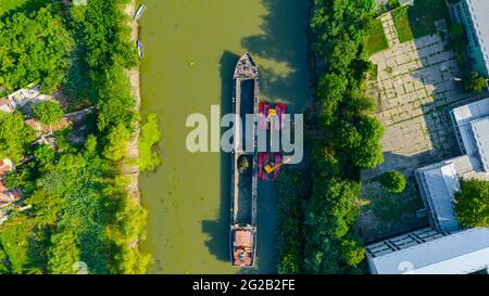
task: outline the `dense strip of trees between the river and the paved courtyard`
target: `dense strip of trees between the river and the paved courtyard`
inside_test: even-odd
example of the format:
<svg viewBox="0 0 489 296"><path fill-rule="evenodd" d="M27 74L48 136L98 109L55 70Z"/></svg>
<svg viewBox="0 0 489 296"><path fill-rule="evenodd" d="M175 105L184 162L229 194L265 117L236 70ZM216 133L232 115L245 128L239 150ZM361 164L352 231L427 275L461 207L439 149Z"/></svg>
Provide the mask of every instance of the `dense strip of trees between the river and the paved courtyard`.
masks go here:
<svg viewBox="0 0 489 296"><path fill-rule="evenodd" d="M364 248L351 233L360 211L360 170L384 160L384 128L371 116L373 100L364 95L364 80L373 65L363 42L375 7L373 0L313 1L317 120L308 127L314 130L313 162L311 175L304 178L312 180L312 186L305 185L305 193L290 186L279 191L279 201L294 196L290 208L279 204L283 273L349 273L361 268ZM294 234L292 228L302 234Z"/></svg>

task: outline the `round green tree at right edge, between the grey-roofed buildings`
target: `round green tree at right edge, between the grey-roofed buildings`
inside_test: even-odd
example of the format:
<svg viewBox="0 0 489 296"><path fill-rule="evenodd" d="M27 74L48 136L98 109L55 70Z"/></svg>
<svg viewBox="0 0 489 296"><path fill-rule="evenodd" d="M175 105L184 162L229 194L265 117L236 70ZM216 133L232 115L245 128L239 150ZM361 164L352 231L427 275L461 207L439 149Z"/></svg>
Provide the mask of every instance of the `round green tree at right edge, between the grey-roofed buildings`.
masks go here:
<svg viewBox="0 0 489 296"><path fill-rule="evenodd" d="M489 181L462 179L454 196L459 222L464 227L489 227Z"/></svg>

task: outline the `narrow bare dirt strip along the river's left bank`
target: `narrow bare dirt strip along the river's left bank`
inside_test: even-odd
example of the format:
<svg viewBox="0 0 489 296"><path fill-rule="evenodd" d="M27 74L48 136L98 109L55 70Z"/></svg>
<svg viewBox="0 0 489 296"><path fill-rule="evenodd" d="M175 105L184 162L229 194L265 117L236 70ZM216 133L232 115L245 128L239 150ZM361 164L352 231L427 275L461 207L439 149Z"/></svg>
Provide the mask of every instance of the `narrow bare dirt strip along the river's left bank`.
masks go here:
<svg viewBox="0 0 489 296"><path fill-rule="evenodd" d="M125 13L129 16L130 20L130 29L131 29L131 40L136 44L138 40L138 23L133 21L133 16L136 13L136 0L130 1L129 5L125 9ZM129 78L130 85L133 87L133 94L136 100L135 112L139 113L139 108L141 105L141 94L140 94L140 76L139 76L139 67L134 69L126 70L127 77ZM129 184L127 186L128 196L134 198L138 204L141 204L141 194L139 192L139 134L140 127L139 120L135 123L135 132L128 143L127 147L127 158L130 159L123 165L123 172L128 177Z"/></svg>

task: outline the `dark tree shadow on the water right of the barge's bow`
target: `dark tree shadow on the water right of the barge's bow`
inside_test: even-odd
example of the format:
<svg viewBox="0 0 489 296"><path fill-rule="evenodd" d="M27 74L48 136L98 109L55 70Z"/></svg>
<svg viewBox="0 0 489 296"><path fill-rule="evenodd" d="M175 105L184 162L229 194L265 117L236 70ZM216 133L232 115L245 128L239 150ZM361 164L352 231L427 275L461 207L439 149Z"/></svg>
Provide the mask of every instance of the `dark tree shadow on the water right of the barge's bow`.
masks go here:
<svg viewBox="0 0 489 296"><path fill-rule="evenodd" d="M247 51L262 59L286 65L286 70L260 65L261 92L273 102L291 104L297 111L310 98L306 39L310 1L262 0L263 34L243 38ZM301 40L302 39L302 40Z"/></svg>

